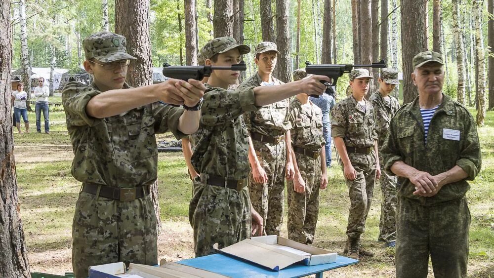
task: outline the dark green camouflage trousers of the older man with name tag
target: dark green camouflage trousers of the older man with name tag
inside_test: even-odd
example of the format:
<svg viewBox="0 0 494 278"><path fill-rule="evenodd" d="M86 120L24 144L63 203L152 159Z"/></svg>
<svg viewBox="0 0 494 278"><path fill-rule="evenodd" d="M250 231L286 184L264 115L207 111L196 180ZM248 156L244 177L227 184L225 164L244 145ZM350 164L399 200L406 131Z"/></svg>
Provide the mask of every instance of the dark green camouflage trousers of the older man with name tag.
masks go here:
<svg viewBox="0 0 494 278"><path fill-rule="evenodd" d="M425 278L429 255L434 277L466 277L470 211L465 197L434 206L398 198L396 277Z"/></svg>

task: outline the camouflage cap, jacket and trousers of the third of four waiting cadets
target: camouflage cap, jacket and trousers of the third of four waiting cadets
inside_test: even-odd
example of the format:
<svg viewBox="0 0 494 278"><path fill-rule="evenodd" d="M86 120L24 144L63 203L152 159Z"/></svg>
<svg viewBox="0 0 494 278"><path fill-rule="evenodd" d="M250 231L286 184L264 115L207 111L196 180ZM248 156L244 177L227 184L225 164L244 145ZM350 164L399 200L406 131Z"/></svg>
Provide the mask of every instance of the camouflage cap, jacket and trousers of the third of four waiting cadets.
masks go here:
<svg viewBox="0 0 494 278"><path fill-rule="evenodd" d="M353 70L350 80L363 76L369 76L369 72L363 69ZM375 114L371 103L367 100L365 102L367 109L364 111L353 95L350 95L337 103L331 111L331 136L343 138L347 149L373 148L377 140ZM371 208L376 174L375 154L372 149L369 154L348 152L348 157L357 172L357 178L353 181L345 178L351 202L346 235L357 239L365 232L367 214Z"/></svg>

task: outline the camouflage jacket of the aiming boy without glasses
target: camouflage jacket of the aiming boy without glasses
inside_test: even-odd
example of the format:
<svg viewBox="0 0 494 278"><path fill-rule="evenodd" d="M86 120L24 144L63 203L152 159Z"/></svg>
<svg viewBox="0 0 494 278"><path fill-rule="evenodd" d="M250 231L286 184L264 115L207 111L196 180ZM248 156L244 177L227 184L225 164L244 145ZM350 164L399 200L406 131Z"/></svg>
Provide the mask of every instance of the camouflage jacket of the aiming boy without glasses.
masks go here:
<svg viewBox="0 0 494 278"><path fill-rule="evenodd" d="M236 90L206 84L192 166L201 174L245 179L250 172L248 134L242 114L255 111L252 87Z"/></svg>

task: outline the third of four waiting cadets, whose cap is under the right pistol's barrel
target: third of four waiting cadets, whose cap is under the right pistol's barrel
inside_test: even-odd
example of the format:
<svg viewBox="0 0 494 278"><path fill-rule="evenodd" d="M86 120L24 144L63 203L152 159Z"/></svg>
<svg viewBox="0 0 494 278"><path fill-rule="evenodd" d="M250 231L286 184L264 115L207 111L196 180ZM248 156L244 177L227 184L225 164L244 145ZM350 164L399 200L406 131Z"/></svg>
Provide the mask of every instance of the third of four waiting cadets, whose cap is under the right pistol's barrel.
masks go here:
<svg viewBox="0 0 494 278"><path fill-rule="evenodd" d="M345 253L353 259L358 259L359 255L374 255L360 242L371 208L374 181L381 172L374 110L364 98L371 79L368 70L353 70L350 73L352 95L337 103L331 114L331 136L343 163L350 196Z"/></svg>

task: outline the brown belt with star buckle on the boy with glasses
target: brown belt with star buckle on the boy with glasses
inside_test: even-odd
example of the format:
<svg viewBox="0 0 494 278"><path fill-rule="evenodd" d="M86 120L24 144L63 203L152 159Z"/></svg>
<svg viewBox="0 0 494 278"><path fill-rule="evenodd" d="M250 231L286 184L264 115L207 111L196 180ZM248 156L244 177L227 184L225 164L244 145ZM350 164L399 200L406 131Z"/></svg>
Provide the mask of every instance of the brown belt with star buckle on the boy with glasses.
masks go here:
<svg viewBox="0 0 494 278"><path fill-rule="evenodd" d="M99 196L108 199L120 200L123 202L133 201L149 195L149 185L136 186L131 188L118 188L95 183L84 183L82 192L96 195L98 187L101 186Z"/></svg>

